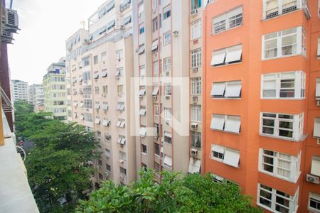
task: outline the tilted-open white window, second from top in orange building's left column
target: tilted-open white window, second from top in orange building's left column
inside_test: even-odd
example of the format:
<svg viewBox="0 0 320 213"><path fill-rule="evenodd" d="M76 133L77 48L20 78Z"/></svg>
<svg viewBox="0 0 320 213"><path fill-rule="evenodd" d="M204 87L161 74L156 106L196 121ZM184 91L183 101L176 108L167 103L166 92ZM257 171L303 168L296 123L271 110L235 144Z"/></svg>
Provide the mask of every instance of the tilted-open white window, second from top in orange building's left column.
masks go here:
<svg viewBox="0 0 320 213"><path fill-rule="evenodd" d="M211 66L228 65L242 61L242 45L213 51Z"/></svg>

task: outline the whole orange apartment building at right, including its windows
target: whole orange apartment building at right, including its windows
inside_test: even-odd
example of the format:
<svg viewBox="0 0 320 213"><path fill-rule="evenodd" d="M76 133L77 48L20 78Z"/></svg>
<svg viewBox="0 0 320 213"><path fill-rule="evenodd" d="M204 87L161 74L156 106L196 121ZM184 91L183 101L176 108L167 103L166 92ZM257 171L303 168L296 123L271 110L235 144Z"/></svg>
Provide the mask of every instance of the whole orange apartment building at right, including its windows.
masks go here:
<svg viewBox="0 0 320 213"><path fill-rule="evenodd" d="M320 212L320 1L203 10L203 173L265 212Z"/></svg>

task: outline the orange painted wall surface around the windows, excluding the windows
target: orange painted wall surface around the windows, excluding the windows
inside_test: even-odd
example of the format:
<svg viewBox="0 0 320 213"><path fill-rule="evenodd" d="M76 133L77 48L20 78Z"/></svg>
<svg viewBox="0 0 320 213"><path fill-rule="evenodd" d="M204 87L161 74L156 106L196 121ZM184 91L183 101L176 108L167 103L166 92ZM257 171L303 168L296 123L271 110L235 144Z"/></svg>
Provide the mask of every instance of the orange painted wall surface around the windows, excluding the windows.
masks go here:
<svg viewBox="0 0 320 213"><path fill-rule="evenodd" d="M212 18L242 5L242 26L223 33L211 34ZM299 210L306 212L309 191L320 194L319 185L305 181L309 173L310 155L320 156L320 146L312 137L314 117L320 116L315 102L315 79L320 77L320 60L316 58L317 39L320 37L318 1L309 1L311 17L304 11L294 11L262 21L262 0L217 0L203 11L203 173L214 173L238 182L242 192L257 197L257 182L294 195L299 187ZM262 35L287 28L303 26L307 32L306 58L296 55L273 60L262 60ZM242 62L211 67L213 50L242 44ZM306 98L300 100L264 100L260 98L261 75L272 72L303 70L306 72ZM241 99L212 99L212 82L241 80ZM305 141L293 142L260 136L260 112L300 114L304 112ZM210 129L212 114L240 115L240 135ZM240 167L233 168L210 159L211 144L215 143L240 151ZM259 148L290 155L302 151L301 171L297 183L288 182L258 171ZM306 157L308 156L308 157Z"/></svg>

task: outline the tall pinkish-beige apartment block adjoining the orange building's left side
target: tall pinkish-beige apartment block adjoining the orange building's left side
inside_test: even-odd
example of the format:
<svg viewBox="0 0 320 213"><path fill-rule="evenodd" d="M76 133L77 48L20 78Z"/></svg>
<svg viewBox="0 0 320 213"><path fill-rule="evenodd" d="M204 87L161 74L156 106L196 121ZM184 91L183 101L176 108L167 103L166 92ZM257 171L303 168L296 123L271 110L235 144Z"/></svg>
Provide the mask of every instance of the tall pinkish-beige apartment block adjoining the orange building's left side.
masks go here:
<svg viewBox="0 0 320 213"><path fill-rule="evenodd" d="M136 1L134 5L138 168L200 172L200 10L198 0Z"/></svg>

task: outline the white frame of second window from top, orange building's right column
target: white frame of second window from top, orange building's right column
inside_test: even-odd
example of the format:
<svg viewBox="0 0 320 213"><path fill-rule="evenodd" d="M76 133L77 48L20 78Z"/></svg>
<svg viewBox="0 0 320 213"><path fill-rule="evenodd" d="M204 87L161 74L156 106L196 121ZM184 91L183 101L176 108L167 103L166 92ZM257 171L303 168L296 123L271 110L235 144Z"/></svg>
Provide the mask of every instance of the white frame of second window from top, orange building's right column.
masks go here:
<svg viewBox="0 0 320 213"><path fill-rule="evenodd" d="M290 31L295 31L295 32L290 33ZM285 39L287 37L294 36L294 35L295 35L296 43L282 46L282 39ZM273 42L275 42L275 48L268 48L266 46L266 43L272 42L272 40ZM282 48L287 48L290 46L292 46L293 49L295 46L295 50L296 50L295 53L293 52L291 54L288 53L288 54L282 55ZM267 56L266 51L268 50L274 51L274 56ZM277 32L262 35L262 60L270 60L274 58L289 57L294 55L303 55L304 57L306 57L306 31L302 26L298 26L295 28L288 28L282 31L277 31Z"/></svg>

